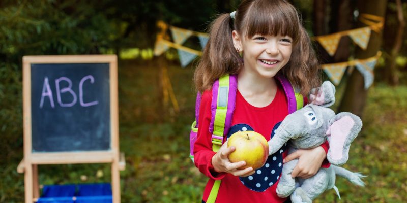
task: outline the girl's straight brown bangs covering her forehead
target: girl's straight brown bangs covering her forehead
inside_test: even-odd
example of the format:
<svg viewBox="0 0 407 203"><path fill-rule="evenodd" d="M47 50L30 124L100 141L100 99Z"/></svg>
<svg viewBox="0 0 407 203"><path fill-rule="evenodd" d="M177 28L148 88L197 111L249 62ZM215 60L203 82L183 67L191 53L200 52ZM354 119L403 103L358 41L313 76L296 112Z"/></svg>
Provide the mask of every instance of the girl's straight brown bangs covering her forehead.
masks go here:
<svg viewBox="0 0 407 203"><path fill-rule="evenodd" d="M244 35L251 38L254 35L289 36L297 42L300 33L297 11L294 7L281 5L280 1L256 1L245 16Z"/></svg>

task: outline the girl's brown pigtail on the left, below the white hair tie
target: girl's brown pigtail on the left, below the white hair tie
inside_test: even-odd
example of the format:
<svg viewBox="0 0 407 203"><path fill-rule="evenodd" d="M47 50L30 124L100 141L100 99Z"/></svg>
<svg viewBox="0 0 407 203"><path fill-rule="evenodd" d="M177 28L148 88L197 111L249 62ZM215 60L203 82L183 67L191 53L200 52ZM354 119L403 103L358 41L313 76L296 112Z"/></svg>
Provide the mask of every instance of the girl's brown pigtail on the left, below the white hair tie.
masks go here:
<svg viewBox="0 0 407 203"><path fill-rule="evenodd" d="M199 92L211 89L217 78L237 74L242 62L232 40L233 20L221 14L211 23L209 40L194 73L195 88Z"/></svg>

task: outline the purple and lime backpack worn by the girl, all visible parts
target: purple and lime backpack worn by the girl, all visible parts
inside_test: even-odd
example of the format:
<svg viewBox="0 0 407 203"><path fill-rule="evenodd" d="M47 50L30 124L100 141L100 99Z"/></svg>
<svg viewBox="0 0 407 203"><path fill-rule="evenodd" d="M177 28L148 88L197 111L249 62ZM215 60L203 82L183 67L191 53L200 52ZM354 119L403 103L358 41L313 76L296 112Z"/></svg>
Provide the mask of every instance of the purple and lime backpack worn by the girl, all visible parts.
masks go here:
<svg viewBox="0 0 407 203"><path fill-rule="evenodd" d="M288 102L288 114L304 106L304 98L298 88L295 88L284 76L278 74L275 78L281 83ZM224 75L212 86L211 123L209 131L212 133L212 150L218 152L222 146L223 137L230 130L238 89L237 75ZM190 154L194 162L194 143L198 133L199 106L202 94L197 93L195 101L195 121L192 123L189 136ZM215 99L216 98L216 99ZM207 203L215 202L221 180L216 180L209 194Z"/></svg>

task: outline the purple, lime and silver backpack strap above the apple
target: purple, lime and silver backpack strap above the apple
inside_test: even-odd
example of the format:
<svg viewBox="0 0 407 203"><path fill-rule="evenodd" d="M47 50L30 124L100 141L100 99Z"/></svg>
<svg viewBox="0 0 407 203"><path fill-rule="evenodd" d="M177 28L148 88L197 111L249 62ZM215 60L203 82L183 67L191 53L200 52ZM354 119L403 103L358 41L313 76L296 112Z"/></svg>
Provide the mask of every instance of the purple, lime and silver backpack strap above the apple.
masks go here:
<svg viewBox="0 0 407 203"><path fill-rule="evenodd" d="M212 149L217 152L222 145L232 122L235 111L236 91L238 89L236 75L224 75L212 86L211 124L209 131L212 133Z"/></svg>

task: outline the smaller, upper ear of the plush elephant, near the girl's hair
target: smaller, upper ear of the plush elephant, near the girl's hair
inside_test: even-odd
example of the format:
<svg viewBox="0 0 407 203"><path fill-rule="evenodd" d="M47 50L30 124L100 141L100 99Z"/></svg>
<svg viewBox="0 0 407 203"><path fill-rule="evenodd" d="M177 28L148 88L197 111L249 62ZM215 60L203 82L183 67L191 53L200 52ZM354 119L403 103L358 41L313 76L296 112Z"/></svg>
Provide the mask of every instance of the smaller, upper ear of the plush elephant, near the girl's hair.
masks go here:
<svg viewBox="0 0 407 203"><path fill-rule="evenodd" d="M330 107L335 103L335 86L331 82L325 81L321 87L311 90L309 99L311 104Z"/></svg>

